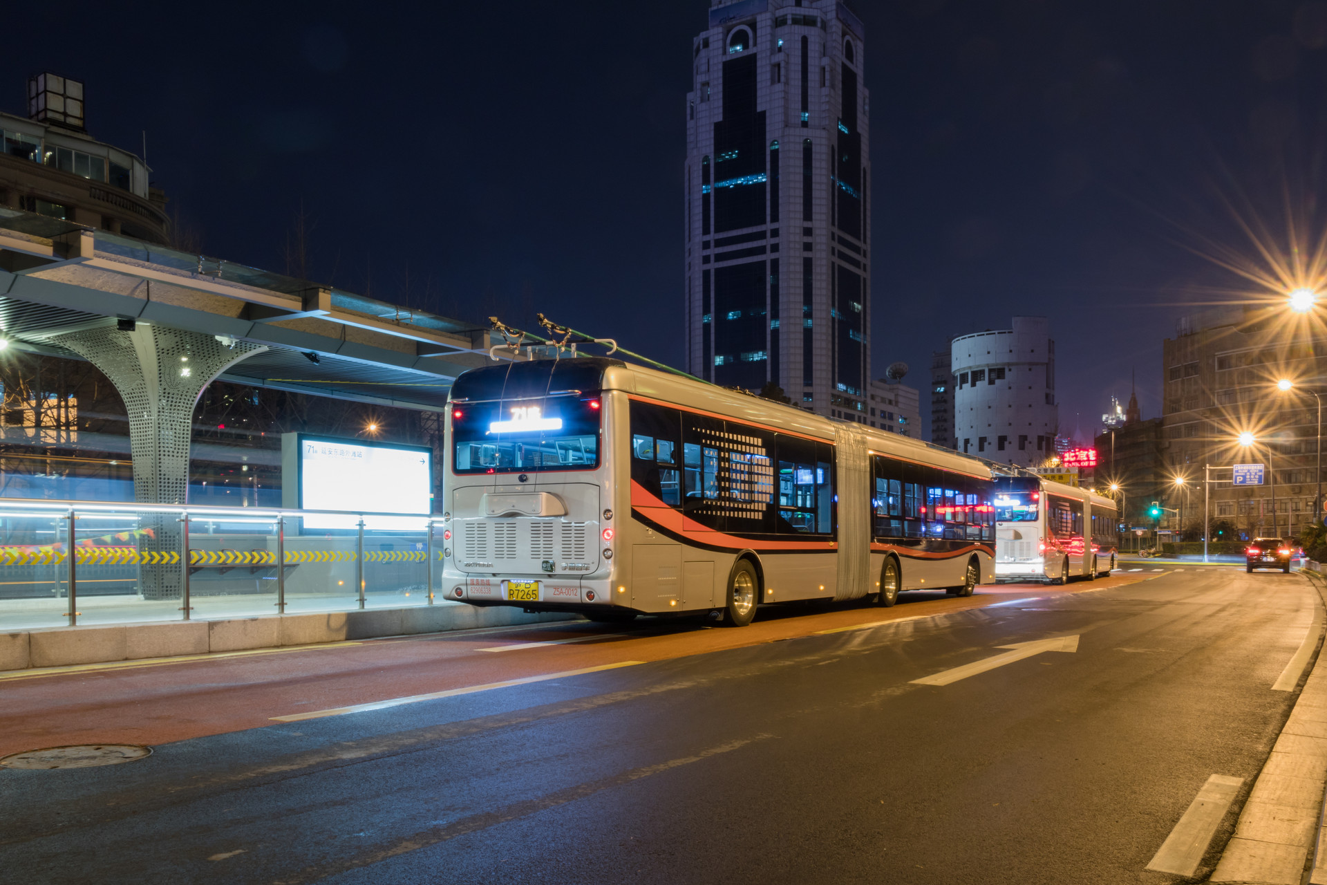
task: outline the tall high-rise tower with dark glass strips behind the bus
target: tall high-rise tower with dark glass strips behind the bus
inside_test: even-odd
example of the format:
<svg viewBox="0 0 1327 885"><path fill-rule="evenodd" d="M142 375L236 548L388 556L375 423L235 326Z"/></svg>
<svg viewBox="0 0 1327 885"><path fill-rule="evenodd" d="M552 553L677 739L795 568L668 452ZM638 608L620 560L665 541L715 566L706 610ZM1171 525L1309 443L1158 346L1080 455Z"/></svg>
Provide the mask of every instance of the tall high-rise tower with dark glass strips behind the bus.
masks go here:
<svg viewBox="0 0 1327 885"><path fill-rule="evenodd" d="M711 0L687 96L693 374L868 421L869 96L839 0Z"/></svg>

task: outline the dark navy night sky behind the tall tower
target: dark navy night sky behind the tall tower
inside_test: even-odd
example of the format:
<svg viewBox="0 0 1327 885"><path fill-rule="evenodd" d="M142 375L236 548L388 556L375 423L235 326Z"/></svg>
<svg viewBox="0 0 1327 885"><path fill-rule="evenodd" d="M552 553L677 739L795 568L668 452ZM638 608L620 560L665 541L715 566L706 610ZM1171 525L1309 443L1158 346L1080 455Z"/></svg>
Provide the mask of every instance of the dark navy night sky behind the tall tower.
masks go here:
<svg viewBox="0 0 1327 885"><path fill-rule="evenodd" d="M0 107L88 82L208 255L476 322L543 310L681 366L682 163L707 3L7 9ZM1223 202L1314 222L1327 3L857 0L874 372L924 391L954 334L1047 314L1089 433L1188 305L1257 295ZM1205 245L1205 243L1208 243ZM1263 293L1265 295L1265 293ZM929 427L928 397L922 397Z"/></svg>

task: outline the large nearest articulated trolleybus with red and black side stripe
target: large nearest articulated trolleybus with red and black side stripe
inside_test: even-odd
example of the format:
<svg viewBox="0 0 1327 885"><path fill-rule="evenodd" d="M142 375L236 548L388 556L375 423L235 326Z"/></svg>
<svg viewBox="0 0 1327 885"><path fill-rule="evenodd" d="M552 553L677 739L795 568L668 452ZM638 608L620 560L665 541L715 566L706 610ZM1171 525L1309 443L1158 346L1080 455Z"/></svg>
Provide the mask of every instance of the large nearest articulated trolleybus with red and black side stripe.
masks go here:
<svg viewBox="0 0 1327 885"><path fill-rule="evenodd" d="M743 626L995 577L990 470L906 437L584 357L467 372L447 422L447 598Z"/></svg>

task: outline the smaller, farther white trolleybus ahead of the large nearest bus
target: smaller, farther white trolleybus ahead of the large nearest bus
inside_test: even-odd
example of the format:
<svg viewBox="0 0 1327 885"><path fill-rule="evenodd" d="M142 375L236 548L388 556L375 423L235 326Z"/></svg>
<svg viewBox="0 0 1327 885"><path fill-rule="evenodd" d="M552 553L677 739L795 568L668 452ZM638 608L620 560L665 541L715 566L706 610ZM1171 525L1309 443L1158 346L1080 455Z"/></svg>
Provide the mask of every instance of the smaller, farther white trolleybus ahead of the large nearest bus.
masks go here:
<svg viewBox="0 0 1327 885"><path fill-rule="evenodd" d="M1054 581L1109 575L1119 553L1115 502L1040 476L995 480L995 577Z"/></svg>

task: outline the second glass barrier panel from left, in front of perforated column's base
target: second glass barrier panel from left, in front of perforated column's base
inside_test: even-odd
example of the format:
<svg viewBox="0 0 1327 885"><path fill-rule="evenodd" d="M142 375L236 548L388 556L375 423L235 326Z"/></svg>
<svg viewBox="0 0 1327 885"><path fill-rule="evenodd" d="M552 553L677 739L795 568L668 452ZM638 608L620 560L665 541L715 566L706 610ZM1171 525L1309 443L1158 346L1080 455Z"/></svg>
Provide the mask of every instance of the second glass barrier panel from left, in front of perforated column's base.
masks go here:
<svg viewBox="0 0 1327 885"><path fill-rule="evenodd" d="M3 512L3 511L0 511ZM78 625L178 621L184 584L178 513L76 511Z"/></svg>

